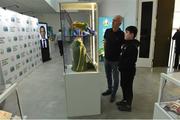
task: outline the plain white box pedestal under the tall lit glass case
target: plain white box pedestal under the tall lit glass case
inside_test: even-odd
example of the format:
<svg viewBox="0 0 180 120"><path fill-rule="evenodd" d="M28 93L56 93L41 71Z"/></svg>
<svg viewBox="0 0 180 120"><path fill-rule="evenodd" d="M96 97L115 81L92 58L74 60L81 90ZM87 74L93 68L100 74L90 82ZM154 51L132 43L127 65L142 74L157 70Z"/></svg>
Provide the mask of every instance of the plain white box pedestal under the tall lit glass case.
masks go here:
<svg viewBox="0 0 180 120"><path fill-rule="evenodd" d="M67 116L101 113L101 90L98 72L73 72L65 77Z"/></svg>

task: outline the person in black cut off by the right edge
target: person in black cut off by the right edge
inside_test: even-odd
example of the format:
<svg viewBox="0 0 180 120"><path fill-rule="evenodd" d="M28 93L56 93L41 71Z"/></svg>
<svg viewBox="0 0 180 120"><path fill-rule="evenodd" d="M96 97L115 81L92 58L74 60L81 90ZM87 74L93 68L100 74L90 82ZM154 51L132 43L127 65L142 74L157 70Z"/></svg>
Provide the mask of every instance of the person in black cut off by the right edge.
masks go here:
<svg viewBox="0 0 180 120"><path fill-rule="evenodd" d="M175 46L175 64L174 64L174 69L180 69L179 66L179 55L180 55L180 28L177 29L177 32L173 35L172 37L173 40L176 41L176 46Z"/></svg>

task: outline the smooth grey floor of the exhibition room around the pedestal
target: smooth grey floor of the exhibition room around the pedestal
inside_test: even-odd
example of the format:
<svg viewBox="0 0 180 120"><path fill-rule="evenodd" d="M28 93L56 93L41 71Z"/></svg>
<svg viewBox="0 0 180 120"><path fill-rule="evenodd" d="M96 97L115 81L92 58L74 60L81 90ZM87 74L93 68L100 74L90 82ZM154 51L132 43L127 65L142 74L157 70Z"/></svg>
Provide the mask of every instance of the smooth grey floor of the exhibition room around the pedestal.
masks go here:
<svg viewBox="0 0 180 120"><path fill-rule="evenodd" d="M154 103L157 101L160 73L165 68L137 68L134 80L134 100L132 112L120 112L109 97L102 97L101 115L76 118L117 118L117 119L151 119ZM102 92L106 89L104 68L101 65ZM121 89L117 100L122 98ZM20 87L24 115L29 119L66 119L65 88L63 80L63 60L56 54L51 61L42 64L25 78Z"/></svg>

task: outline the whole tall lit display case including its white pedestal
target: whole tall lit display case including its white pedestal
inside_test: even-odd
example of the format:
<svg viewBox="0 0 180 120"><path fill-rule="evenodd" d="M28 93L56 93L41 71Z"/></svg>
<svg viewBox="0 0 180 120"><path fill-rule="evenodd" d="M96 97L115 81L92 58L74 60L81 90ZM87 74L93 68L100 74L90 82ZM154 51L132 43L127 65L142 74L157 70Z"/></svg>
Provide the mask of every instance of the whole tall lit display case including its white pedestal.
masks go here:
<svg viewBox="0 0 180 120"><path fill-rule="evenodd" d="M97 13L96 3L60 4L68 117L100 114Z"/></svg>

